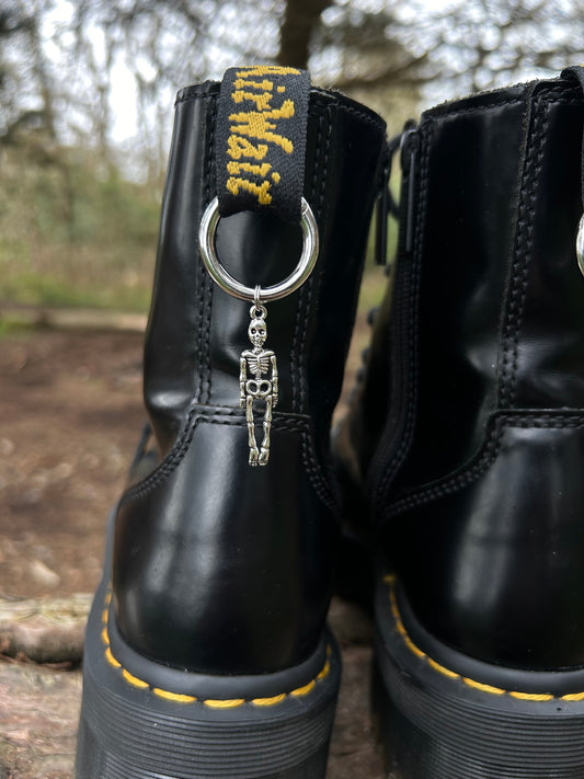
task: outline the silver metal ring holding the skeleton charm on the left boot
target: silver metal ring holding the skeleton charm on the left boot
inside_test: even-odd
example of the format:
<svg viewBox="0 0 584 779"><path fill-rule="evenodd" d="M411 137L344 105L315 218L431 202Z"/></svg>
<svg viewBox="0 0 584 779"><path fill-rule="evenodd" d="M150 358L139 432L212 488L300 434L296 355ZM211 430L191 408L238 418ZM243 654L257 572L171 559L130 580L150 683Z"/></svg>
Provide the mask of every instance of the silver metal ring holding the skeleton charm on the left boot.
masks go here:
<svg viewBox="0 0 584 779"><path fill-rule="evenodd" d="M215 197L205 209L198 229L198 245L205 267L214 282L216 282L224 291L229 293L229 295L240 300L255 300L256 287L248 287L241 284L241 282L238 282L219 262L219 257L215 251L215 233L217 232L219 218L219 202ZM262 302L279 300L286 297L286 295L290 295L290 293L298 289L312 273L319 255L319 230L312 209L304 197L301 203L300 227L302 228L302 252L298 265L293 273L283 282L279 282L279 284L262 287L260 289L260 299Z"/></svg>

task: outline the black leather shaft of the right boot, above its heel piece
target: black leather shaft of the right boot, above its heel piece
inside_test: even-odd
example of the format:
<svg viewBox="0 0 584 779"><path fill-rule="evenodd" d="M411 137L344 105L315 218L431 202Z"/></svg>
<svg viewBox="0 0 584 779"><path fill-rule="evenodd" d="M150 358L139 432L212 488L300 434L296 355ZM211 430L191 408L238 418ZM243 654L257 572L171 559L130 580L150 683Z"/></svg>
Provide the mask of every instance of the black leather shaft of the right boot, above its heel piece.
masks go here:
<svg viewBox="0 0 584 779"><path fill-rule="evenodd" d="M463 465L493 413L584 406L582 118L577 88L538 82L427 112L410 138L416 243L402 243L393 314L403 301L424 445L406 489Z"/></svg>

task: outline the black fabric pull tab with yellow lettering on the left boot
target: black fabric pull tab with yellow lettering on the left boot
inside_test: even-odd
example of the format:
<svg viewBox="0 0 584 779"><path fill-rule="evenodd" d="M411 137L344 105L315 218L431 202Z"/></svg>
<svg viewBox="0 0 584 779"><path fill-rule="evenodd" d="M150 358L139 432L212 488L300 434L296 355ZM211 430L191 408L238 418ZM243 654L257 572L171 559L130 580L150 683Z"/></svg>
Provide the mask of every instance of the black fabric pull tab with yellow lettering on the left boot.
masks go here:
<svg viewBox="0 0 584 779"><path fill-rule="evenodd" d="M306 70L275 65L226 70L215 140L221 217L270 209L300 221L309 93Z"/></svg>

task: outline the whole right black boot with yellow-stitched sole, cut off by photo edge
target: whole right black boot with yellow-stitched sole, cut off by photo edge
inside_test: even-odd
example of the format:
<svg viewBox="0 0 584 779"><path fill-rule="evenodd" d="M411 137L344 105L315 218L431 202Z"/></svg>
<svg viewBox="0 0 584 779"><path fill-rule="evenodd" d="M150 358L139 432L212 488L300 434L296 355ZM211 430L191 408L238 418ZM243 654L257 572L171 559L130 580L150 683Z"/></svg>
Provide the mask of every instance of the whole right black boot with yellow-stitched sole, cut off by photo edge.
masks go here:
<svg viewBox="0 0 584 779"><path fill-rule="evenodd" d="M397 779L584 777L581 70L428 111L339 437Z"/></svg>

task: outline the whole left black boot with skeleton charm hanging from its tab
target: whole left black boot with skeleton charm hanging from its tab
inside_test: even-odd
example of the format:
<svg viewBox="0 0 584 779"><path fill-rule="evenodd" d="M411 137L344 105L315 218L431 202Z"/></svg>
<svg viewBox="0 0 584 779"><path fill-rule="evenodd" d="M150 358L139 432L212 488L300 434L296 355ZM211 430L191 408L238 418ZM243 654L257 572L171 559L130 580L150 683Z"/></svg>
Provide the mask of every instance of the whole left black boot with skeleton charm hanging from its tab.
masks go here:
<svg viewBox="0 0 584 779"><path fill-rule="evenodd" d="M385 124L337 93L295 92L296 76L228 71L176 100L145 351L154 446L111 522L79 779L324 776L340 679L324 622L339 520L329 429ZM304 99L306 125L291 128ZM293 146L299 187L298 167L275 169ZM280 210L278 183L290 185ZM247 210L227 216L241 205L230 195Z"/></svg>

